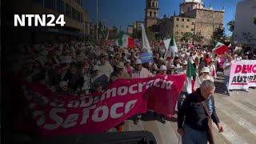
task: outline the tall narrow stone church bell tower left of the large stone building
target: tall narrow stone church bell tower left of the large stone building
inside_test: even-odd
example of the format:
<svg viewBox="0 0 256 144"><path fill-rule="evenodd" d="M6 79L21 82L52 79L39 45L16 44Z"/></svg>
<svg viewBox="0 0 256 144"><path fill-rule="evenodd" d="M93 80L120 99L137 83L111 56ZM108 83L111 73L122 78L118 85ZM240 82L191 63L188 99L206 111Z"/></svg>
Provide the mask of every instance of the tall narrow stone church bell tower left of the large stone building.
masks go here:
<svg viewBox="0 0 256 144"><path fill-rule="evenodd" d="M154 26L158 22L158 0L146 0L145 25Z"/></svg>

